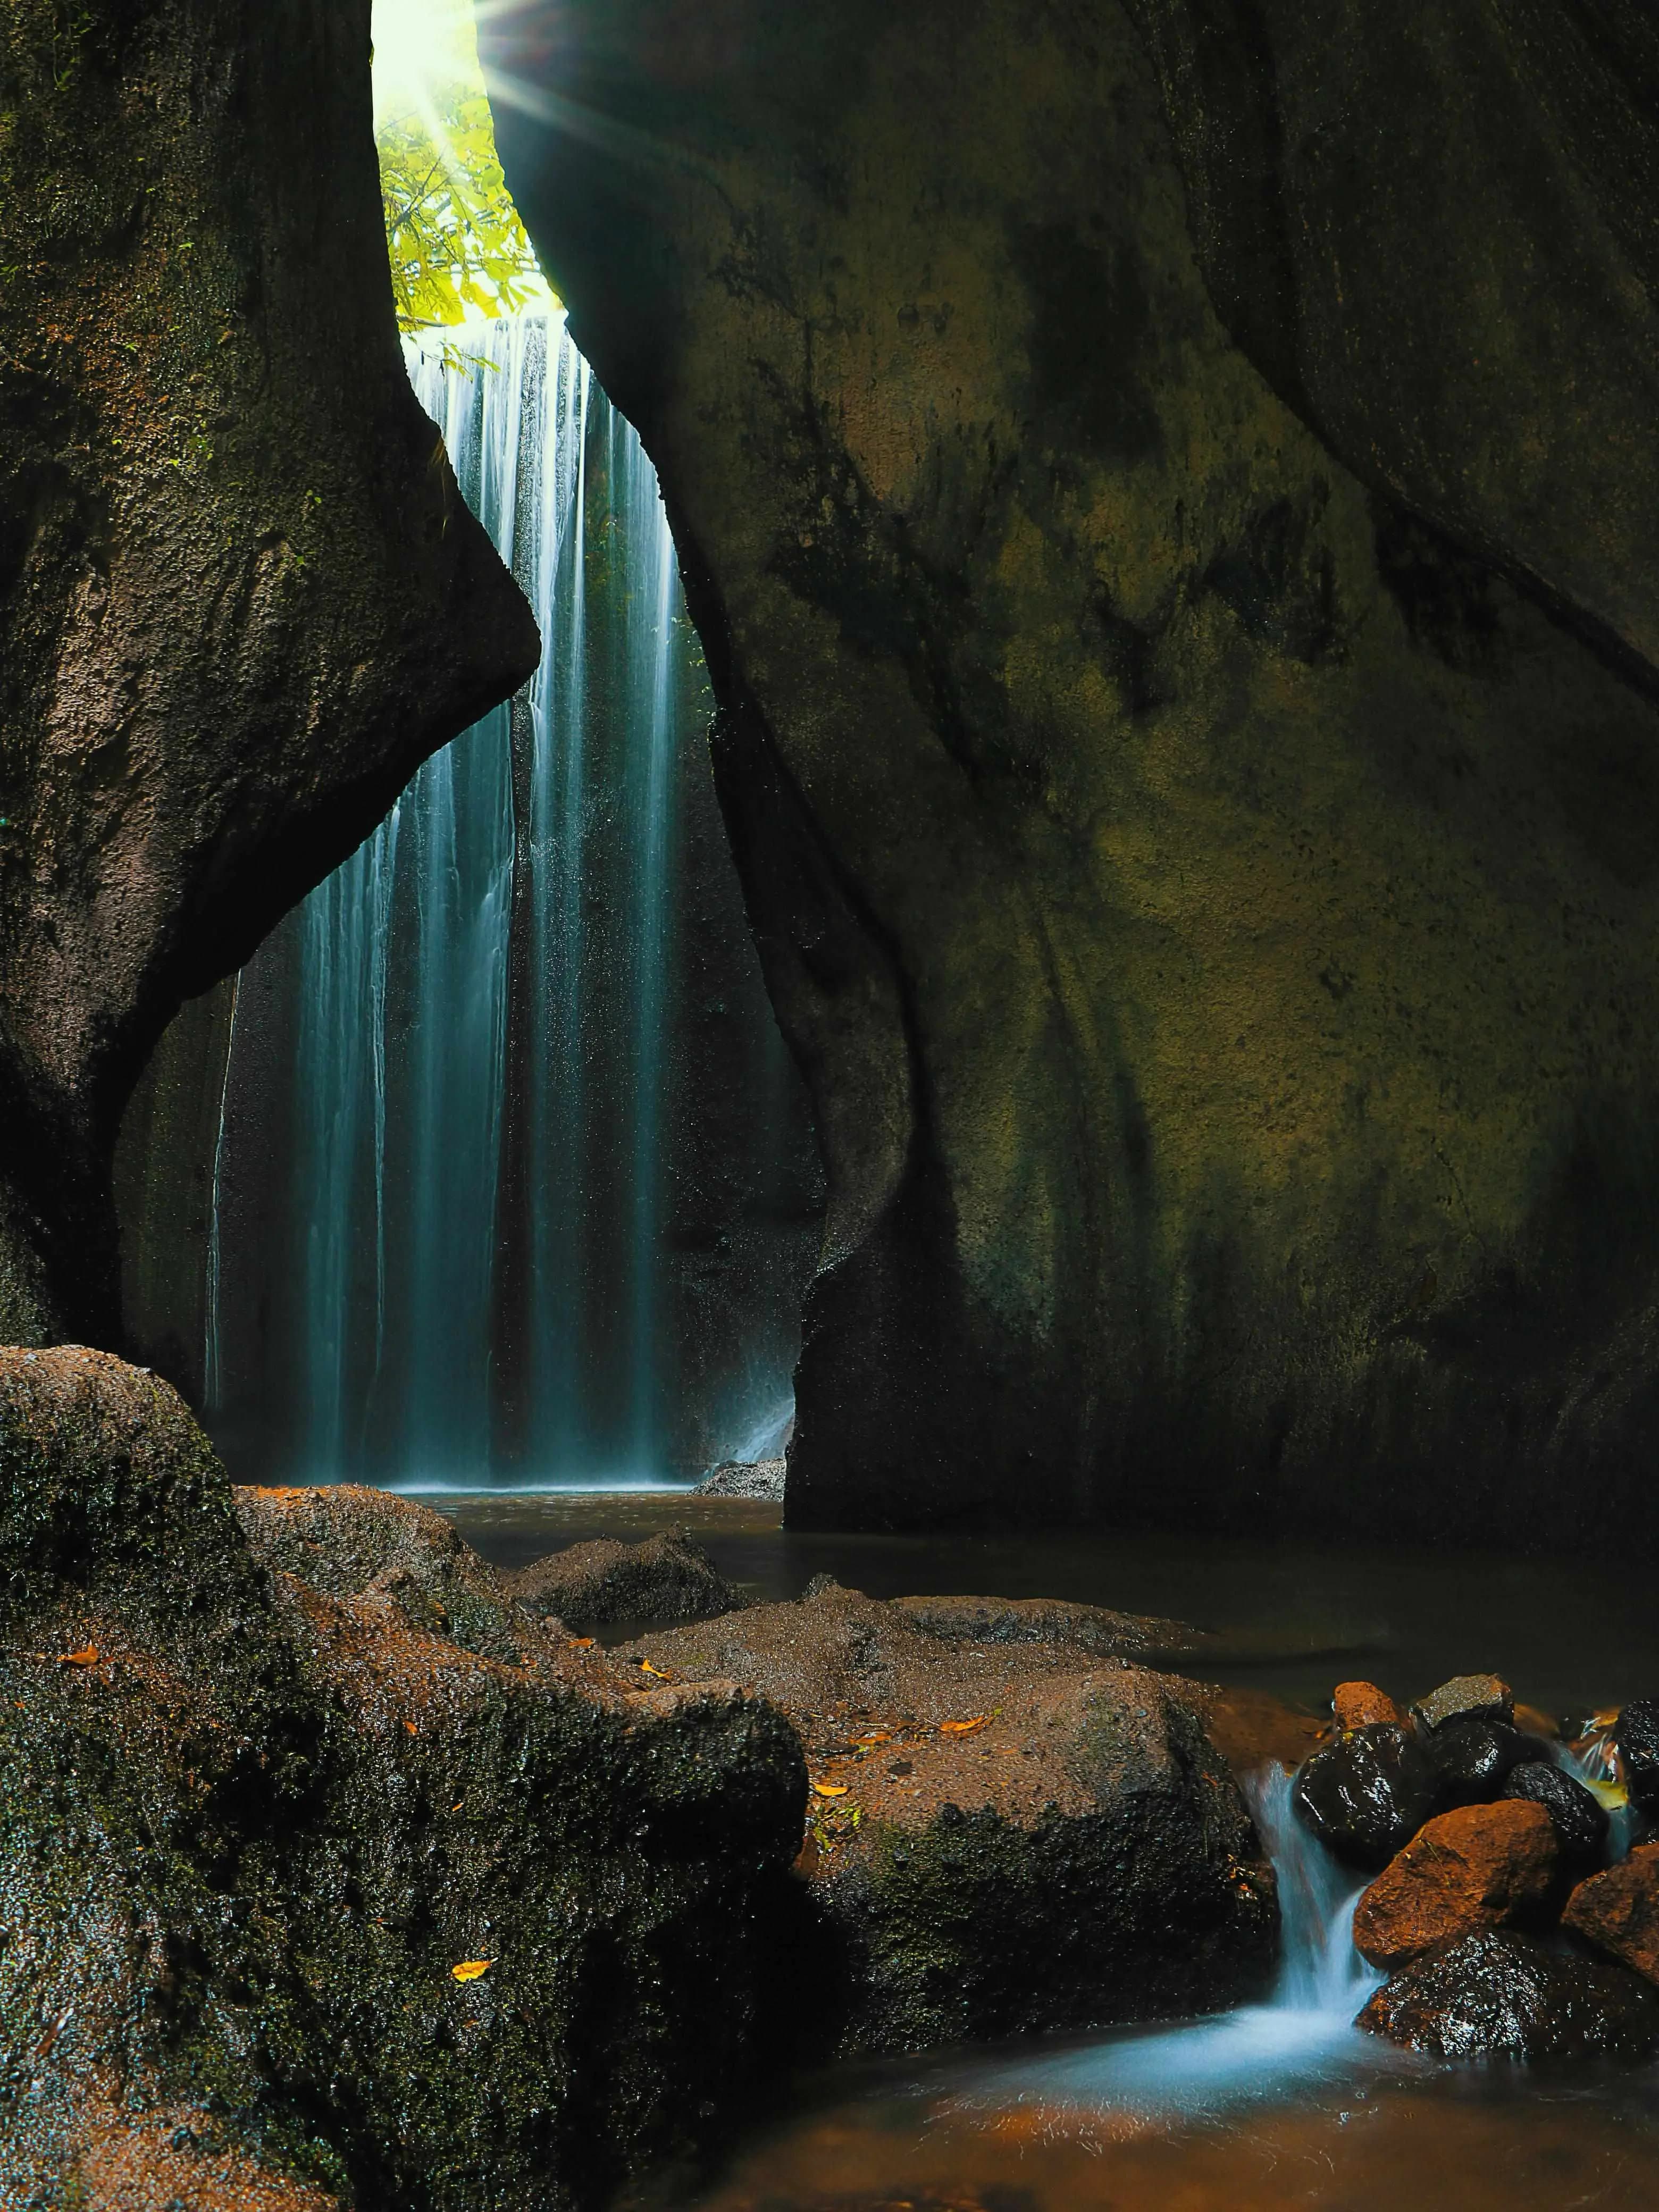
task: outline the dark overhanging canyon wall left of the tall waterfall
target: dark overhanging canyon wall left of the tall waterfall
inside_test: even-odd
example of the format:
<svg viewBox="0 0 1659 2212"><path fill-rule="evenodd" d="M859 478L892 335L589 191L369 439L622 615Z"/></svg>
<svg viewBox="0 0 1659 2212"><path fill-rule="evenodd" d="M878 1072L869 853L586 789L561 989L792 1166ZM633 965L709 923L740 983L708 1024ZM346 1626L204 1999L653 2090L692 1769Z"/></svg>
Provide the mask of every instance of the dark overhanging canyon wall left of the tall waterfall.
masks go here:
<svg viewBox="0 0 1659 2212"><path fill-rule="evenodd" d="M398 358L369 0L20 0L0 186L0 1338L115 1343L150 1046L535 628Z"/></svg>

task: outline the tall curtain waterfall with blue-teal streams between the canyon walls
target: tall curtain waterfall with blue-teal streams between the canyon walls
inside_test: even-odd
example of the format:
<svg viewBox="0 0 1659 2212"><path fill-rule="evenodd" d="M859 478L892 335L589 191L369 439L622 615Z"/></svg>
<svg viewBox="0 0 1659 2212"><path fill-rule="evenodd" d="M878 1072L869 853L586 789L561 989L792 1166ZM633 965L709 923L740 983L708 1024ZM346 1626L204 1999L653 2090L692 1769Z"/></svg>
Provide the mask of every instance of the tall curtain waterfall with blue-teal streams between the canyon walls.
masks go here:
<svg viewBox="0 0 1659 2212"><path fill-rule="evenodd" d="M409 376L531 599L542 664L425 763L257 956L261 1004L288 1006L292 1029L261 1042L261 1082L288 1068L292 1091L237 1117L252 1135L232 1179L281 1188L248 1210L274 1223L270 1250L228 1250L226 1110L254 1064L234 1042L208 1409L241 1389L237 1436L285 1429L261 1469L285 1480L626 1482L661 1478L675 1451L690 1473L675 1360L708 1334L703 1276L719 1292L721 1261L697 1261L688 1290L679 1254L719 1252L723 1232L675 1217L697 1199L681 1093L706 1084L721 1022L743 1099L721 1139L757 1192L805 1119L776 1093L781 1046L723 849L684 920L688 792L706 874L719 830L692 750L706 677L650 460L560 314L469 325L465 345L469 369L411 347ZM695 958L681 927L701 931ZM757 1343L712 1365L697 1352L710 1402L692 1444L787 1396L774 1310L792 1329L805 1230L807 1212L745 1230L726 1305L765 1314Z"/></svg>

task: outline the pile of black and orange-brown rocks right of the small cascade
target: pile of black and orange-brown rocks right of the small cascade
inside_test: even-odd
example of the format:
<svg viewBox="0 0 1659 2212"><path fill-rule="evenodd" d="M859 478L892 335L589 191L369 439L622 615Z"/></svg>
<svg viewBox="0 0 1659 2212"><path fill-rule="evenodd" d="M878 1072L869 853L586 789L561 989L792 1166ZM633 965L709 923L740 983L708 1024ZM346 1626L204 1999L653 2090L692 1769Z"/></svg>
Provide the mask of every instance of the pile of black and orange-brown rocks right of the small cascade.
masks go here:
<svg viewBox="0 0 1659 2212"><path fill-rule="evenodd" d="M1659 1708L1571 1734L1495 1674L1409 1712L1338 1686L1294 1803L1376 1874L1354 1942L1389 1980L1363 2028L1451 2059L1659 2051Z"/></svg>

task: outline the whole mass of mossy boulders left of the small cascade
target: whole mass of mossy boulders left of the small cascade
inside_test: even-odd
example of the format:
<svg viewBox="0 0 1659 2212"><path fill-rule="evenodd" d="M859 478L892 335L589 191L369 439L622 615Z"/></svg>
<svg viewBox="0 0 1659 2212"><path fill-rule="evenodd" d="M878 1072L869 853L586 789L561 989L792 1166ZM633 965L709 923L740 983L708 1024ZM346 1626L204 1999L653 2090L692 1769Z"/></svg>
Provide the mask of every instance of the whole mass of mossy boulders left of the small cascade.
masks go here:
<svg viewBox="0 0 1659 2212"><path fill-rule="evenodd" d="M7 2205L602 2205L803 2057L1270 1973L1172 1624L832 1586L604 1652L553 1593L637 1559L232 1491L73 1347L0 1352L0 1482Z"/></svg>

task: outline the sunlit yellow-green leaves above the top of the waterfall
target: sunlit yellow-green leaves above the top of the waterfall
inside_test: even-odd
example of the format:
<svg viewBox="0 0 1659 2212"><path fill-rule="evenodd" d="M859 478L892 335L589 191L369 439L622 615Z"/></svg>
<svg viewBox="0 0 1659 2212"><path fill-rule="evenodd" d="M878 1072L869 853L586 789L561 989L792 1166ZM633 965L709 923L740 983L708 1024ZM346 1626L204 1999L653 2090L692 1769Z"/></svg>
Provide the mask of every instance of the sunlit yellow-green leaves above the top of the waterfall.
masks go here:
<svg viewBox="0 0 1659 2212"><path fill-rule="evenodd" d="M551 299L518 219L482 86L434 91L422 113L378 128L392 290L405 336L449 332L471 316L515 314ZM445 336L445 358L467 354Z"/></svg>

